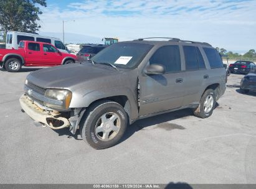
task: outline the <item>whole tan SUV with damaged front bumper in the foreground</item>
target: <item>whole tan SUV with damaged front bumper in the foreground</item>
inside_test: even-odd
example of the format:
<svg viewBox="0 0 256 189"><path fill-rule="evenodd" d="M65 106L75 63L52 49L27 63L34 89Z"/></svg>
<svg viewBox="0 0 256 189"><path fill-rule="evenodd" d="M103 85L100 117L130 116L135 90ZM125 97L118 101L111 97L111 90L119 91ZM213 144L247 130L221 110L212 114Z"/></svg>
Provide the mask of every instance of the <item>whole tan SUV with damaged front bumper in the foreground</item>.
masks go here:
<svg viewBox="0 0 256 189"><path fill-rule="evenodd" d="M91 63L45 68L25 81L22 109L52 129L77 129L95 149L118 143L138 119L191 108L208 118L226 70L211 45L179 39L110 45Z"/></svg>

